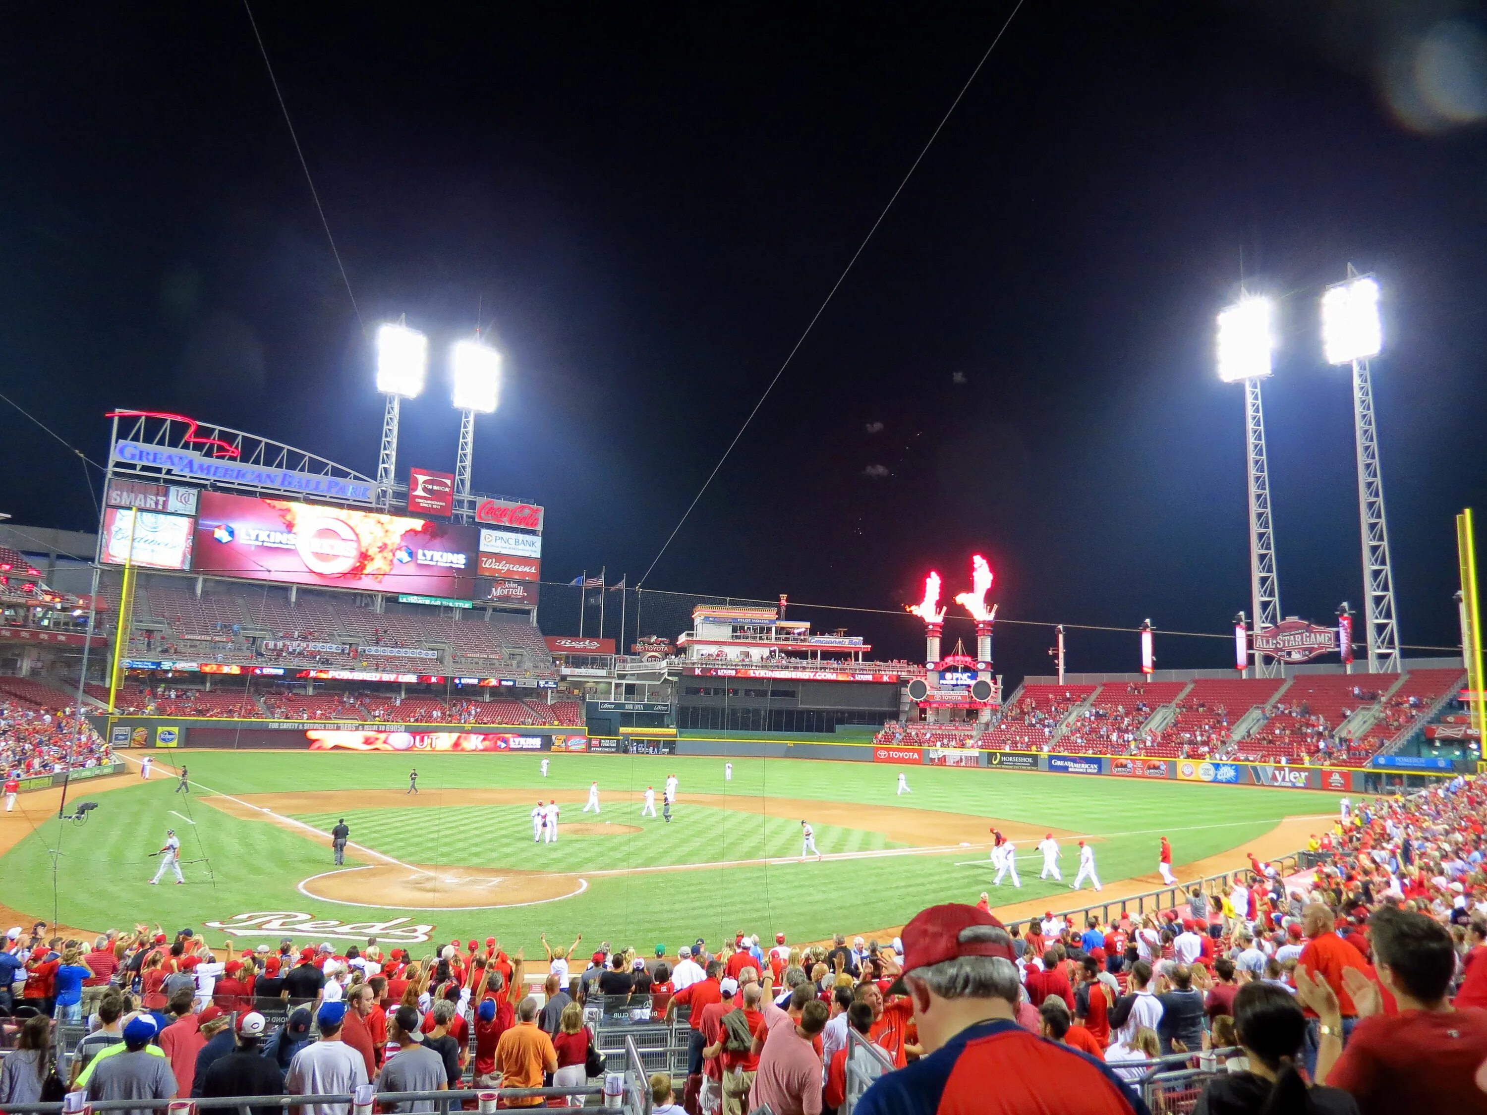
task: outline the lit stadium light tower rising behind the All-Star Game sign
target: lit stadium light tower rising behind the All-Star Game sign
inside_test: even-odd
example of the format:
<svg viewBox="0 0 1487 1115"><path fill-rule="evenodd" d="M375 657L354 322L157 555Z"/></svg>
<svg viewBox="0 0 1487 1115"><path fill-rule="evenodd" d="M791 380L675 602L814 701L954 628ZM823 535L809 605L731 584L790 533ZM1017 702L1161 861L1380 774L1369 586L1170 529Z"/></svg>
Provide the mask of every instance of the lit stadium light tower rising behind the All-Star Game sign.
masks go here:
<svg viewBox="0 0 1487 1115"><path fill-rule="evenodd" d="M1270 470L1259 381L1270 376L1274 336L1270 299L1245 296L1218 315L1218 378L1245 384L1245 445L1249 459L1249 596L1255 633L1280 623L1276 549L1270 529ZM1255 676L1280 675L1280 663L1255 654Z"/></svg>

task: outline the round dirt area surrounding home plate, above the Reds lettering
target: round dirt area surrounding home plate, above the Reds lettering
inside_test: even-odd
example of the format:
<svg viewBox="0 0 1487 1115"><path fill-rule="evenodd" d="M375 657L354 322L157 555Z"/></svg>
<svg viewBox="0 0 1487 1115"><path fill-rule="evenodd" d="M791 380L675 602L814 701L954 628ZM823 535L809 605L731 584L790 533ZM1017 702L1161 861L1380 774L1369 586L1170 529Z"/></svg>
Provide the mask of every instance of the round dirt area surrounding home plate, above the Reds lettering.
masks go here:
<svg viewBox="0 0 1487 1115"><path fill-rule="evenodd" d="M587 880L572 874L431 864L348 867L299 885L308 898L391 910L491 910L572 898L587 889Z"/></svg>

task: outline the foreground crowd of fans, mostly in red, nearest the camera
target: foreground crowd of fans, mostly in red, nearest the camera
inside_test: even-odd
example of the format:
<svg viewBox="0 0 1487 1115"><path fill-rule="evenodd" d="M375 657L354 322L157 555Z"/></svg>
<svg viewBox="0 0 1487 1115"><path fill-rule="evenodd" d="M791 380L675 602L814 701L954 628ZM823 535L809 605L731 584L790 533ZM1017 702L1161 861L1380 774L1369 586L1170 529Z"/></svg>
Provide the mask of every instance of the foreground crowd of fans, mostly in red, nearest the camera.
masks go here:
<svg viewBox="0 0 1487 1115"><path fill-rule="evenodd" d="M238 951L159 925L68 941L37 923L0 948L0 1009L39 1015L0 1105L37 1099L45 1015L88 1020L59 1070L92 1099L120 1094L140 1057L156 1059L153 1099L565 1087L590 1079L586 1020L623 1015L686 1020L690 1075L654 1094L709 1115L836 1109L849 1057L876 1078L858 1115L1193 1111L1194 1087L1212 1115L1483 1111L1484 819L1487 776L1457 778L1319 827L1315 873L1252 856L1231 886L1179 883L1176 908L1112 922L1005 925L983 893L882 943L738 932L590 953L580 934L528 959L495 937ZM1175 1069L1169 1096L1154 1073Z"/></svg>

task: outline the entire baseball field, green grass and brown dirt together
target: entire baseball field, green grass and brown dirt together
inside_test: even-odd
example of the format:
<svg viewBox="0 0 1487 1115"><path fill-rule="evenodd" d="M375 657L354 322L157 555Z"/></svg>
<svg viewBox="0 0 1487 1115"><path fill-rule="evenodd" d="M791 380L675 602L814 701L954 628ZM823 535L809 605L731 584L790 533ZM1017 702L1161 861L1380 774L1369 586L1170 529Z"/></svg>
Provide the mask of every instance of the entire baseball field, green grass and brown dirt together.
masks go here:
<svg viewBox="0 0 1487 1115"><path fill-rule="evenodd" d="M57 791L0 815L0 917L88 931L162 922L239 944L280 937L387 941L485 938L540 954L540 935L650 948L738 931L791 941L891 935L923 905L992 891L1010 916L1074 908L1080 838L1100 898L1158 886L1157 844L1179 879L1294 852L1337 795L1193 782L871 763L537 755L155 752L155 775L74 786L98 807L57 819ZM172 766L189 767L177 792ZM418 769L419 794L407 794ZM910 794L897 794L904 770ZM680 782L672 821L642 794ZM584 813L590 782L599 813ZM556 843L534 843L531 810L556 798ZM330 830L351 830L336 867ZM818 862L800 859L809 821ZM1017 841L1022 888L992 888L990 828ZM152 886L165 830L186 885ZM1033 846L1063 844L1065 880L1041 882ZM15 920L10 923L13 925Z"/></svg>

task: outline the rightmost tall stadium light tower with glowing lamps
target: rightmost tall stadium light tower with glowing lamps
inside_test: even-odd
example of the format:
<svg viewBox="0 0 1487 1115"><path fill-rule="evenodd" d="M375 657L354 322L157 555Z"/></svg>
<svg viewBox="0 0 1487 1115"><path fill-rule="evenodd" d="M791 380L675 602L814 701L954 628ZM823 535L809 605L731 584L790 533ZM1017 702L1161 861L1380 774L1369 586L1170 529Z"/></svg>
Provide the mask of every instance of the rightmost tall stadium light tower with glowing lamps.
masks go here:
<svg viewBox="0 0 1487 1115"><path fill-rule="evenodd" d="M1378 284L1347 265L1347 279L1322 294L1322 351L1328 364L1353 366L1353 427L1358 437L1358 519L1364 538L1364 611L1368 623L1368 672L1399 672L1393 566L1384 523L1384 482L1374 427L1370 357L1383 348Z"/></svg>

